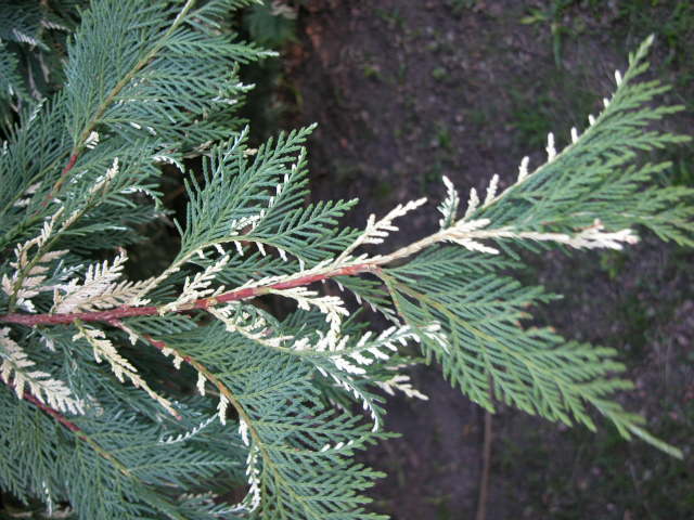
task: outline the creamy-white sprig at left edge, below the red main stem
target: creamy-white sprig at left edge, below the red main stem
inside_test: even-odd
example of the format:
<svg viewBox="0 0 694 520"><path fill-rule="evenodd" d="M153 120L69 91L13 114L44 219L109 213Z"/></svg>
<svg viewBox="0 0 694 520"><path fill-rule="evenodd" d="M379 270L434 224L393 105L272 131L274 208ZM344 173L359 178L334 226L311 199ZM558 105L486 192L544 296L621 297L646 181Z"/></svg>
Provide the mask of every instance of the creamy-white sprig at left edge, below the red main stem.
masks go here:
<svg viewBox="0 0 694 520"><path fill-rule="evenodd" d="M10 328L0 329L0 379L14 388L20 399L24 399L25 389L40 402L53 408L70 414L83 414L85 403L73 396L65 382L54 379L43 370L31 370L36 365L28 359L22 347L10 337Z"/></svg>

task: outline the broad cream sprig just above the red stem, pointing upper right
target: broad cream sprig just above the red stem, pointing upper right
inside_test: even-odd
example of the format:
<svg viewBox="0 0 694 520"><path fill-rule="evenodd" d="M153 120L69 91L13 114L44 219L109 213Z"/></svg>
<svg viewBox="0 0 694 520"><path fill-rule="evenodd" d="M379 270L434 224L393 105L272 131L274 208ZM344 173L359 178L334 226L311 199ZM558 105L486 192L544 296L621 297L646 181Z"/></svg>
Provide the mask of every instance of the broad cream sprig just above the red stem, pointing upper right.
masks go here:
<svg viewBox="0 0 694 520"><path fill-rule="evenodd" d="M89 265L85 280L73 278L56 287L51 312L89 312L129 303L149 281L117 283L127 260L128 256L124 251L111 264L104 260L103 263Z"/></svg>

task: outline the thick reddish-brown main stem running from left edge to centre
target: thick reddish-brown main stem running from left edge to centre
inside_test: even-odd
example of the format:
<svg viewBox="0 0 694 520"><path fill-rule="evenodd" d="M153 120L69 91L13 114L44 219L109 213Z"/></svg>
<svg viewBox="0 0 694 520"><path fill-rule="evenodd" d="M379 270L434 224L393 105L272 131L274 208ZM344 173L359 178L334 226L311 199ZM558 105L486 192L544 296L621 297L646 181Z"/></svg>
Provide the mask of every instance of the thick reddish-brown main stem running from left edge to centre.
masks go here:
<svg viewBox="0 0 694 520"><path fill-rule="evenodd" d="M346 268L336 269L327 273L322 274L309 274L307 276L300 276L298 278L288 280L286 282L278 282L277 284L270 284L262 287L246 287L243 289L235 289L229 292L224 292L211 298L201 298L181 306L179 309L172 312L187 312L194 309L207 309L209 307L218 306L219 303L228 303L230 301L245 300L248 298L255 298L257 296L266 295L272 290L291 289L294 287L301 287L310 285L314 282L321 282L323 280L330 280L335 276L352 276L359 273L375 272L378 270L377 265L371 263L359 263L356 265L349 265ZM152 316L159 312L159 308L155 306L149 307L118 307L110 311L95 311L95 312L70 312L65 314L23 314L11 313L0 315L0 322L16 323L20 325L26 325L29 327L37 325L65 325L76 321L80 322L115 322L124 317L133 316Z"/></svg>

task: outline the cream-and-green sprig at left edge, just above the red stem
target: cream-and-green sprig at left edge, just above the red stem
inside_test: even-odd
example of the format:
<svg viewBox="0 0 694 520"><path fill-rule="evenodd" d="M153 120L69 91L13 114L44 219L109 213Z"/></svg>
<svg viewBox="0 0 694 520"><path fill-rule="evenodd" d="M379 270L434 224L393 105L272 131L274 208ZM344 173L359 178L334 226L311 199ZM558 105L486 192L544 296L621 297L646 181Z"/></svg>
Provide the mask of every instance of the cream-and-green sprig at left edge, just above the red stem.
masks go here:
<svg viewBox="0 0 694 520"><path fill-rule="evenodd" d="M12 276L2 275L2 290L16 299L16 304L28 312L36 312L31 298L39 292L53 290L44 285L48 278L49 263L61 258L67 250L46 251L52 237L57 219L63 210L48 219L38 236L14 248L15 260L10 265L15 269Z"/></svg>

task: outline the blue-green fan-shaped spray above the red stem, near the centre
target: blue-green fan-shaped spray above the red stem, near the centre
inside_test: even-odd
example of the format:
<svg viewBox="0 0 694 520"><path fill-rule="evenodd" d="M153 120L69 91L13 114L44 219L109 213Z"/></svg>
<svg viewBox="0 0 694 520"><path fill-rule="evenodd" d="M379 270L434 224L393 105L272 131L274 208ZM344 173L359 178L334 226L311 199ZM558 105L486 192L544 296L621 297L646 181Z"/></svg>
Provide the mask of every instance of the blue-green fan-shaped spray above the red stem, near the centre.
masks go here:
<svg viewBox="0 0 694 520"><path fill-rule="evenodd" d="M356 200L304 205L308 178L300 145L311 129L280 134L277 143L268 141L250 158L245 131L234 142L213 148L204 162L204 183L192 179L188 184L181 257L245 240L281 249L306 264L342 251L356 232L337 231L335 224ZM248 221L261 211L258 222Z"/></svg>

